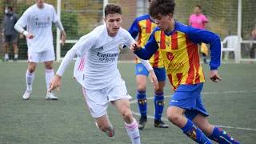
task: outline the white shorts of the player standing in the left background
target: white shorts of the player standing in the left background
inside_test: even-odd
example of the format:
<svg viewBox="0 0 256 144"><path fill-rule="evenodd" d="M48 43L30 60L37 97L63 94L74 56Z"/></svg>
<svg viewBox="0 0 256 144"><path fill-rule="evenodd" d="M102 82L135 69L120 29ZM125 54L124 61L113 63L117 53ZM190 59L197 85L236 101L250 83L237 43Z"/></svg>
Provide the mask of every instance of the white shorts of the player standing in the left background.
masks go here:
<svg viewBox="0 0 256 144"><path fill-rule="evenodd" d="M28 62L49 62L49 61L54 61L55 60L55 53L54 49L50 49L47 51L42 51L42 52L27 52L27 60Z"/></svg>

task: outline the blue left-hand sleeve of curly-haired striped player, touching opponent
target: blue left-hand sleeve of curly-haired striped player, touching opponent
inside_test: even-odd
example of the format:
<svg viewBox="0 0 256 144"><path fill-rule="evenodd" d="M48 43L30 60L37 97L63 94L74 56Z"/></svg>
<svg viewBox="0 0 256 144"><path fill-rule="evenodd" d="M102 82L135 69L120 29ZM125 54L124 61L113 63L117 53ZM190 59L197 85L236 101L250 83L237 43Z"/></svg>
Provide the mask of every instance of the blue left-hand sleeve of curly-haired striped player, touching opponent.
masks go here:
<svg viewBox="0 0 256 144"><path fill-rule="evenodd" d="M158 51L158 42L156 42L154 38L155 30L150 35L148 42L146 42L145 48L141 48L141 50L135 51L134 54L138 56L138 58L142 58L148 60L152 57L152 55Z"/></svg>

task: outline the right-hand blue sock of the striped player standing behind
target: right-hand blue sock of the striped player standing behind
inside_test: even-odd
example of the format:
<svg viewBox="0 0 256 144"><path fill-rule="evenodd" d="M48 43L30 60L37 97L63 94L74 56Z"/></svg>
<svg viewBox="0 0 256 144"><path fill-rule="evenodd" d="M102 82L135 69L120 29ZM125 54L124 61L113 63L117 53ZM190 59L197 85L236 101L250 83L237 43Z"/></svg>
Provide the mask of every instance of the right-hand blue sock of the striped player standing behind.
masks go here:
<svg viewBox="0 0 256 144"><path fill-rule="evenodd" d="M154 92L154 120L162 117L163 107L165 106L163 93Z"/></svg>

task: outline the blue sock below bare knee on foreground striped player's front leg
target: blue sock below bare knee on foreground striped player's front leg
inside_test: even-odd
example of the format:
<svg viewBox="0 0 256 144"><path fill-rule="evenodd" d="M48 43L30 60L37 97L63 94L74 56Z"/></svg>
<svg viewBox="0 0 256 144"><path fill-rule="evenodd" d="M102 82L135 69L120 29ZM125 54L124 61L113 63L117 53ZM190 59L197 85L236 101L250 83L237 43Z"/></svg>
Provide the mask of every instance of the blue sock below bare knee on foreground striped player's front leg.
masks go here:
<svg viewBox="0 0 256 144"><path fill-rule="evenodd" d="M194 124L194 122L187 119L186 126L182 128L182 131L186 136L194 140L194 142L202 144L210 144L210 140L206 137L206 134L203 134L202 131Z"/></svg>

